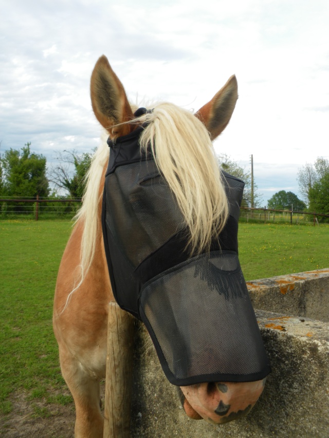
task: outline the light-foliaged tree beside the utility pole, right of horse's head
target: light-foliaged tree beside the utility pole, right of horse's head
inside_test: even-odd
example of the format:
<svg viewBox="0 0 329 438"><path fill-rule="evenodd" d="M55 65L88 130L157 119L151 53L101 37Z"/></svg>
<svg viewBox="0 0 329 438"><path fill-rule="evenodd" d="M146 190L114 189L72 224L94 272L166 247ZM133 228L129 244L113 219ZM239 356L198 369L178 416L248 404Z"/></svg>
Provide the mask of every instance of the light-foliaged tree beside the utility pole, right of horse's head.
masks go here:
<svg viewBox="0 0 329 438"><path fill-rule="evenodd" d="M251 207L251 172L247 172L243 167L239 166L236 161L232 160L227 154L218 156L218 162L225 172L241 179L245 183L245 188L242 198L242 207ZM257 193L257 184L253 184L253 204L255 207L260 207L261 196Z"/></svg>

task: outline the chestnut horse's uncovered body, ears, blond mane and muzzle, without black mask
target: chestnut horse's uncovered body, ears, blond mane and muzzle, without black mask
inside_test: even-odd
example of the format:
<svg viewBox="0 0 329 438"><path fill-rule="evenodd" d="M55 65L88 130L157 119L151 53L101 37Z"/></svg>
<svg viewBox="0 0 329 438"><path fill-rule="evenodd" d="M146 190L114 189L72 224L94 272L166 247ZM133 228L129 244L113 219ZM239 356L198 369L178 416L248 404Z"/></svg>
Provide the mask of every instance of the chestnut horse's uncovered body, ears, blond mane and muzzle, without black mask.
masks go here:
<svg viewBox="0 0 329 438"><path fill-rule="evenodd" d="M211 142L231 119L237 81L233 75L195 114L160 103L154 106L154 116L147 113L136 117L122 83L103 55L92 73L90 95L95 116L106 134L90 165L82 207L60 263L53 306L61 371L76 407L77 438L103 436L100 380L105 377L108 304L115 301L101 227L109 158L106 139L109 136L115 142L129 135L147 117L151 118L149 126L152 120L158 124L156 138L161 137L162 141L157 140L156 154L153 150L157 165L167 175L171 191L178 199L190 232L190 247L197 251L205 249L211 236L222 230L229 214ZM187 134L186 126L192 134ZM168 140L173 134L176 143ZM147 141L152 140L152 135L154 132ZM262 378L254 382L181 386L181 402L190 418L222 424L246 415L260 397L264 384Z"/></svg>

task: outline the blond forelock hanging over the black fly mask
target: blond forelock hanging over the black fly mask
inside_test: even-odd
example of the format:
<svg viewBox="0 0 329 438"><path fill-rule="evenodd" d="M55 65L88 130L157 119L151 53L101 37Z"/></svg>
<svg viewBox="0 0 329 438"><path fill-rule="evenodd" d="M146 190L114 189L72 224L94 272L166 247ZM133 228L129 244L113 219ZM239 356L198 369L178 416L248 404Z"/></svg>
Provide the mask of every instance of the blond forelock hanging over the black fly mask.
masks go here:
<svg viewBox="0 0 329 438"><path fill-rule="evenodd" d="M149 124L141 135L141 148L151 146L156 165L176 197L190 232L191 253L209 250L228 216L209 132L192 112L170 103L157 105L144 119Z"/></svg>

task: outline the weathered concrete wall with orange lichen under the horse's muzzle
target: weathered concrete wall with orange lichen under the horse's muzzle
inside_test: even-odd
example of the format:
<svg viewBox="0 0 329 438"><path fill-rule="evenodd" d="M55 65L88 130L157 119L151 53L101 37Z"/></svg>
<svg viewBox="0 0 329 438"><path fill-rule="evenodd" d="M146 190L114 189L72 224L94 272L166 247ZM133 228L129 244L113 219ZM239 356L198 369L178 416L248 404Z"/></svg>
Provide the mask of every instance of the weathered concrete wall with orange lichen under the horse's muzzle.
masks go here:
<svg viewBox="0 0 329 438"><path fill-rule="evenodd" d="M221 426L190 420L163 374L144 327L136 335L132 437L329 436L329 269L248 283L272 373L241 420ZM297 301L297 302L295 302ZM268 310L289 315L271 313ZM299 316L299 313L302 313ZM296 315L296 316L291 316ZM316 315L322 319L311 319Z"/></svg>

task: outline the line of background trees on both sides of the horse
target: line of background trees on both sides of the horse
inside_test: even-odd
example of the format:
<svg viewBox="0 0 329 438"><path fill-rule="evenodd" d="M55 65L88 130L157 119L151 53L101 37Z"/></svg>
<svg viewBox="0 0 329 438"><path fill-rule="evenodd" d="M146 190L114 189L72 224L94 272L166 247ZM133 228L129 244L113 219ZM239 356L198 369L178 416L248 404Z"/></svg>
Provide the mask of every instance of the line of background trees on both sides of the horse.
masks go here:
<svg viewBox="0 0 329 438"><path fill-rule="evenodd" d="M85 188L85 177L95 153L78 154L63 151L57 156L57 164L47 169L47 160L31 151L28 142L19 150L10 148L0 155L0 197L81 198ZM229 174L245 182L242 206L251 206L251 173L237 164L228 155L218 156L218 164ZM298 172L298 184L303 200L293 192L279 191L267 203L268 208L279 210L311 211L329 214L329 160L319 157L314 164L306 164ZM261 205L257 184L253 184L253 204ZM59 195L61 194L61 195Z"/></svg>

